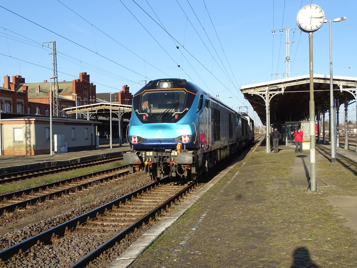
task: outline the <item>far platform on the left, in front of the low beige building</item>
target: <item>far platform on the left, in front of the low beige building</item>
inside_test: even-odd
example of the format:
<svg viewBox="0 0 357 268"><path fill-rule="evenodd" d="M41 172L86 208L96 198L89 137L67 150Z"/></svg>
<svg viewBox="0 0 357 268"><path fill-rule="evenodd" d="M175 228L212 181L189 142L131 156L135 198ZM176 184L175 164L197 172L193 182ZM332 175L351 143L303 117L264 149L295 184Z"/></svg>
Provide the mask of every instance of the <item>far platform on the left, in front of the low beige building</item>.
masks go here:
<svg viewBox="0 0 357 268"><path fill-rule="evenodd" d="M23 169L36 169L51 167L54 165L64 165L74 162L83 162L102 158L104 156L121 155L123 152L129 151L129 143L124 143L119 147L119 144L99 145L98 149L85 150L80 152L70 152L61 154L42 154L42 155L0 155L0 173L17 172Z"/></svg>

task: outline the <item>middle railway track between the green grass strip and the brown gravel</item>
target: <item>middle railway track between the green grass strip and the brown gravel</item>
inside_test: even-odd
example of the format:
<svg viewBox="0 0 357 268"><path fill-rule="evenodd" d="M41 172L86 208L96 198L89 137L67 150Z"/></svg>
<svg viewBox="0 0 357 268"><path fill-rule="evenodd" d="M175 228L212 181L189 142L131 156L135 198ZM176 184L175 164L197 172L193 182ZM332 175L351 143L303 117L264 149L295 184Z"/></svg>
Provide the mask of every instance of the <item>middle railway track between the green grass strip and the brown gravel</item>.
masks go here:
<svg viewBox="0 0 357 268"><path fill-rule="evenodd" d="M0 195L0 214L26 209L44 201L49 201L62 194L71 194L92 185L115 179L129 173L129 165L101 170L74 178L32 187L17 192Z"/></svg>

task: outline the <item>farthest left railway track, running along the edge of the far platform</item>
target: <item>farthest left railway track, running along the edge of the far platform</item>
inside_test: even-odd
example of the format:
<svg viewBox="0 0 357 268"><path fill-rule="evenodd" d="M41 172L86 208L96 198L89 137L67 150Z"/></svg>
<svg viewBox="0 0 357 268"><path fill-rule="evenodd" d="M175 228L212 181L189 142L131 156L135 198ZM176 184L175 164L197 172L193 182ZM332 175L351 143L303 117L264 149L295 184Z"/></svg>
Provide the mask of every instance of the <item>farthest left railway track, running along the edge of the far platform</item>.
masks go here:
<svg viewBox="0 0 357 268"><path fill-rule="evenodd" d="M72 163L72 164L56 165L56 166L46 167L46 168L24 170L24 171L19 171L19 172L12 172L12 173L2 173L2 174L0 174L0 184L19 181L19 180L23 180L23 179L29 179L29 178L43 176L43 175L54 174L54 173L58 173L58 172L64 172L64 171L76 169L79 167L85 168L85 167L91 167L93 165L106 164L106 163L110 163L110 162L120 161L122 159L123 159L122 156L115 156L115 157L89 160L89 161Z"/></svg>

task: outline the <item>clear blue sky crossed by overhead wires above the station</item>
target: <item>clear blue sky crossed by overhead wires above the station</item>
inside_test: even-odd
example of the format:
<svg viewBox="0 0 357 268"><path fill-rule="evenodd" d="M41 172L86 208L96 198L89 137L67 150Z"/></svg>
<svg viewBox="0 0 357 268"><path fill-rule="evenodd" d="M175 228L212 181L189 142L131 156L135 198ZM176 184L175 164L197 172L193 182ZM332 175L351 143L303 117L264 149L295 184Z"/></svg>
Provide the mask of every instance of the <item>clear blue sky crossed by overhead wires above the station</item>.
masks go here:
<svg viewBox="0 0 357 268"><path fill-rule="evenodd" d="M98 93L125 84L135 93L145 80L186 79L258 122L239 88L285 78L286 31L271 29L297 28L308 4L347 17L332 23L333 75L356 77L356 0L14 0L0 4L0 84L5 75L49 80L52 44L42 43L56 41L59 81L86 72ZM313 36L314 73L329 75L328 23ZM289 37L290 77L306 75L308 34Z"/></svg>

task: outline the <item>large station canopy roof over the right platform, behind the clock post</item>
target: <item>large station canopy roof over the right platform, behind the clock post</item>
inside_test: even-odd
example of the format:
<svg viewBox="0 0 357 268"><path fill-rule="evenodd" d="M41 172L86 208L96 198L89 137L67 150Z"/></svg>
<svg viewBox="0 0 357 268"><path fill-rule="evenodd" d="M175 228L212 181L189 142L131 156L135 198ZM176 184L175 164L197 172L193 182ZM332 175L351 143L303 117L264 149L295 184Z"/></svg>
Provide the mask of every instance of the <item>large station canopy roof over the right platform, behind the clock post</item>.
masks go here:
<svg viewBox="0 0 357 268"><path fill-rule="evenodd" d="M333 76L333 96L339 105L356 98L357 77ZM330 75L313 75L315 115L330 110ZM310 75L245 85L241 91L266 125L266 103L270 122L309 120Z"/></svg>

